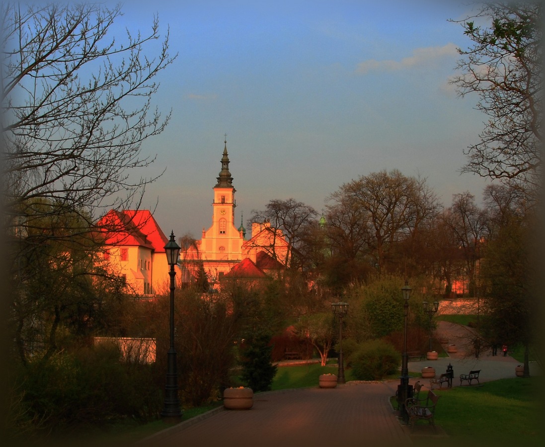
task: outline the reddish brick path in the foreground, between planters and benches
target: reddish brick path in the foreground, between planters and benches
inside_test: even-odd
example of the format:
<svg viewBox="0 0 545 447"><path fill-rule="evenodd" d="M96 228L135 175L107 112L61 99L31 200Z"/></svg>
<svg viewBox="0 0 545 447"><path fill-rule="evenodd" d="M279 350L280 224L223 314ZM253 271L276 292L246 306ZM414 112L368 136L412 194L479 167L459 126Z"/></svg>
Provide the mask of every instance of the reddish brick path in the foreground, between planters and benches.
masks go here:
<svg viewBox="0 0 545 447"><path fill-rule="evenodd" d="M213 410L148 438L144 445L397 446L411 441L390 406L385 383L270 391L254 396L251 410Z"/></svg>

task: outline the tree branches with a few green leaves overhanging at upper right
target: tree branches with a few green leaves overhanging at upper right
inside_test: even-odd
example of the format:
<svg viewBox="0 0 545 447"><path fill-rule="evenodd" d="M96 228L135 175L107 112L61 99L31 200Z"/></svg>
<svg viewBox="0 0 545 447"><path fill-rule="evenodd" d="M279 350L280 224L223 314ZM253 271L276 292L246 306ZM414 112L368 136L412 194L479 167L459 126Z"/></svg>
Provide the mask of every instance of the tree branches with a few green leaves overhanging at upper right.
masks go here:
<svg viewBox="0 0 545 447"><path fill-rule="evenodd" d="M474 45L458 49L463 73L452 83L461 96L477 93L489 117L463 171L533 195L541 184L541 2L487 2L461 23Z"/></svg>

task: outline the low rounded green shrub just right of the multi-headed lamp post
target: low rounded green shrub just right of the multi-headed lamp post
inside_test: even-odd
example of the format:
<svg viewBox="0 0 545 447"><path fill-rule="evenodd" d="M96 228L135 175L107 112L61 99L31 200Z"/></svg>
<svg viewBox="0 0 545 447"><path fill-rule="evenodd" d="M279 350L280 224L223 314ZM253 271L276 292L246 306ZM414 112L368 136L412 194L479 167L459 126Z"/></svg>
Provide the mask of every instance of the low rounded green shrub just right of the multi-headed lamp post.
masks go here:
<svg viewBox="0 0 545 447"><path fill-rule="evenodd" d="M370 340L352 355L354 377L358 380L380 380L396 372L399 353L383 340Z"/></svg>

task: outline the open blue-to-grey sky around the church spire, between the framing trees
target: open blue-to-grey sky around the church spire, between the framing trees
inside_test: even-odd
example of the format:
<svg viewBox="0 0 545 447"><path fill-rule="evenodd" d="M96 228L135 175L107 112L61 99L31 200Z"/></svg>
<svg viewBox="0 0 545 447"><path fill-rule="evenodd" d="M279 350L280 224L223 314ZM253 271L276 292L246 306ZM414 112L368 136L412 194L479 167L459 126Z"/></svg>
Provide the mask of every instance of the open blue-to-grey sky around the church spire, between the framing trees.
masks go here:
<svg viewBox="0 0 545 447"><path fill-rule="evenodd" d="M174 63L154 105L172 110L144 142L156 155L145 208L168 235L200 239L211 226L213 187L227 134L237 190L235 223L271 200L294 198L319 214L360 176L397 169L424 177L444 206L488 180L461 174L464 149L486 116L476 94L449 79L471 41L456 1L131 1L116 26L169 30ZM473 11L474 12L474 11ZM153 53L153 49L148 50Z"/></svg>

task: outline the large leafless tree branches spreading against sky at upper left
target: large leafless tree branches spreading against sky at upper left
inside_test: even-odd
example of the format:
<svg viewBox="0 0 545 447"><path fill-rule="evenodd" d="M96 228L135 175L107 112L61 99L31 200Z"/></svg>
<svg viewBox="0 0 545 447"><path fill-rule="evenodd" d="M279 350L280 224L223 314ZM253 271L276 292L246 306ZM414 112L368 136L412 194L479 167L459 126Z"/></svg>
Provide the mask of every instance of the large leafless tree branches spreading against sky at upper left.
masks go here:
<svg viewBox="0 0 545 447"><path fill-rule="evenodd" d="M137 206L153 180L130 171L154 161L141 144L170 116L152 106L154 78L175 56L168 31L155 56L144 53L160 39L156 17L149 34L110 37L120 15L100 3L2 5L8 232L26 231L44 202L49 214L80 213L87 231L104 210Z"/></svg>

